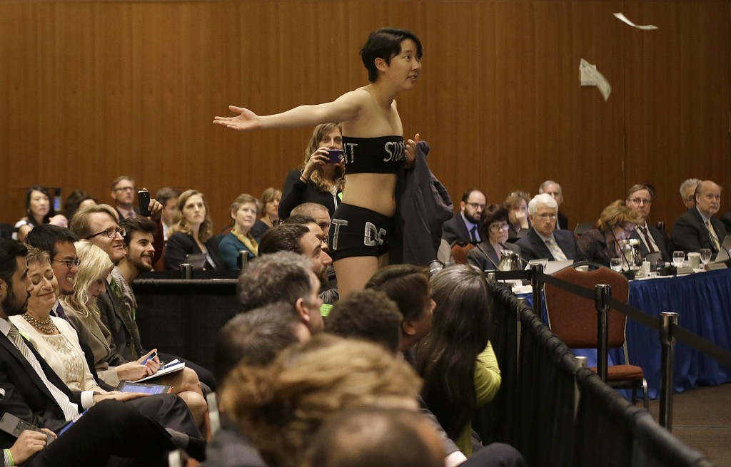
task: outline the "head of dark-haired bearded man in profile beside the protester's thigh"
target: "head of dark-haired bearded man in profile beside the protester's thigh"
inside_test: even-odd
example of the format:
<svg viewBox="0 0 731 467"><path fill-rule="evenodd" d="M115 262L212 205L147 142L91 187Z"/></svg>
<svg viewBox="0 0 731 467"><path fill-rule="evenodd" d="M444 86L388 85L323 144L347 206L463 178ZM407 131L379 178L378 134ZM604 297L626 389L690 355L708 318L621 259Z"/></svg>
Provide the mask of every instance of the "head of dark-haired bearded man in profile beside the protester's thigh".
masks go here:
<svg viewBox="0 0 731 467"><path fill-rule="evenodd" d="M292 220L288 219L289 222ZM313 233L314 229L319 230L314 220L306 220L311 224L312 230L305 225L293 223L276 225L262 235L259 245L260 255L269 255L273 252L291 251L300 253L310 258L312 271L317 274L321 287L327 285L327 266L333 263L333 258L323 250L327 247L322 236ZM321 232L321 231L320 231Z"/></svg>

